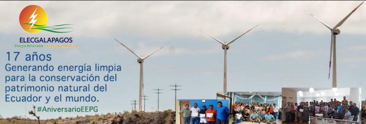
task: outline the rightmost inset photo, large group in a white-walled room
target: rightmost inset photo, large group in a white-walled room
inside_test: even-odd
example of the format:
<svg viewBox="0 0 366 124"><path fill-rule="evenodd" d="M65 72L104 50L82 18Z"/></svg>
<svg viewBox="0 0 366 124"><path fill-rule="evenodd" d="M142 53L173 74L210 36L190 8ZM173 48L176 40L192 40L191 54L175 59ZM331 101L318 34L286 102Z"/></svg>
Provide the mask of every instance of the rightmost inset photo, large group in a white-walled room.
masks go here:
<svg viewBox="0 0 366 124"><path fill-rule="evenodd" d="M284 123L361 123L361 88L282 88Z"/></svg>

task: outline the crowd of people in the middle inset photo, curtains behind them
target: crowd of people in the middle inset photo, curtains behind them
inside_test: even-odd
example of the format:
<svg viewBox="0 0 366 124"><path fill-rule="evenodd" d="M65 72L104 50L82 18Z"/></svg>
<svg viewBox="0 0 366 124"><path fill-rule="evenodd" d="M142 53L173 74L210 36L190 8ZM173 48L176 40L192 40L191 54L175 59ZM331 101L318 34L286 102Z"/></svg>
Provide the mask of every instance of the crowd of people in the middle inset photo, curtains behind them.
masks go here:
<svg viewBox="0 0 366 124"><path fill-rule="evenodd" d="M279 107L277 104L235 102L233 108L233 123L241 121L276 123Z"/></svg>

